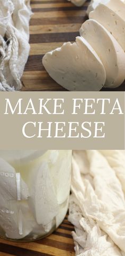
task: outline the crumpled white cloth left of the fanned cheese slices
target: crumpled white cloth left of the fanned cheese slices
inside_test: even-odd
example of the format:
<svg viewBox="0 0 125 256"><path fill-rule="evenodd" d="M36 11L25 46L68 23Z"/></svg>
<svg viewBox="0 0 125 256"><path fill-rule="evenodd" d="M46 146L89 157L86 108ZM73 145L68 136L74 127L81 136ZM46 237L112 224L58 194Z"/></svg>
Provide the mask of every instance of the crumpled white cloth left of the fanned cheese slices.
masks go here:
<svg viewBox="0 0 125 256"><path fill-rule="evenodd" d="M30 0L0 0L0 90L21 89L28 60Z"/></svg>

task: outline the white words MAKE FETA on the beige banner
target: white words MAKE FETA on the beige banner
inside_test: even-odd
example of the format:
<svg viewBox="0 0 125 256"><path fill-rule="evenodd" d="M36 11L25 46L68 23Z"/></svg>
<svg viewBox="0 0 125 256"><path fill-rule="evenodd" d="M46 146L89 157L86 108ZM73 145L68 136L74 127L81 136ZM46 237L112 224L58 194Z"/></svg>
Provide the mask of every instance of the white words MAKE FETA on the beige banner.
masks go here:
<svg viewBox="0 0 125 256"><path fill-rule="evenodd" d="M39 98L33 102L32 98L24 102L23 98L14 104L5 98L4 114L65 114L68 112L65 98ZM123 114L118 98L111 102L110 98L72 98L70 114Z"/></svg>

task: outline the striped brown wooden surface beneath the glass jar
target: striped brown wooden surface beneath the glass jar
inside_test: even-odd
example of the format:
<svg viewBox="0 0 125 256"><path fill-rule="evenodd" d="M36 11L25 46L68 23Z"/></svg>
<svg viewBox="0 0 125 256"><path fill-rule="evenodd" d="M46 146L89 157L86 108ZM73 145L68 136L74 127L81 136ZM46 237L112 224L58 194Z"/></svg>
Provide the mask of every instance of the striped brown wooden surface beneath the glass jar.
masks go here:
<svg viewBox="0 0 125 256"><path fill-rule="evenodd" d="M52 235L39 241L17 243L0 238L0 256L75 256L72 230L66 216Z"/></svg>

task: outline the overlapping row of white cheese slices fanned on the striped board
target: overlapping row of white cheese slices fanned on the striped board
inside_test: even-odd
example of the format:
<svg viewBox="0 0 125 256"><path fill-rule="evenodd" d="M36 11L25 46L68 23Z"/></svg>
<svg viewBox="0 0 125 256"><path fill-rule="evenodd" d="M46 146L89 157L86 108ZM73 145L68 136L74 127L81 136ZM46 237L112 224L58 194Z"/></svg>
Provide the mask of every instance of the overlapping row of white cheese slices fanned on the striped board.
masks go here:
<svg viewBox="0 0 125 256"><path fill-rule="evenodd" d="M92 1L88 12L76 42L46 53L43 66L68 90L118 87L125 79L125 3Z"/></svg>

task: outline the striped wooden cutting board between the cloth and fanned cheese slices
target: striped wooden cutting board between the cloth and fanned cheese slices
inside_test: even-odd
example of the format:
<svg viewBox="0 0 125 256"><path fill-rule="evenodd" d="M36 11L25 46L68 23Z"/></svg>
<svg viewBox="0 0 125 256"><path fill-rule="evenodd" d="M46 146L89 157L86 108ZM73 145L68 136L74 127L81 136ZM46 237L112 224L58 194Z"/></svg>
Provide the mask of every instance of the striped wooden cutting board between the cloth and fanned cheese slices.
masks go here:
<svg viewBox="0 0 125 256"><path fill-rule="evenodd" d="M44 70L42 57L64 42L74 42L75 37L79 35L81 24L87 19L86 9L89 2L90 0L87 0L84 6L76 7L67 0L31 1L31 51L22 78L23 91L65 90ZM114 90L125 90L125 83Z"/></svg>

